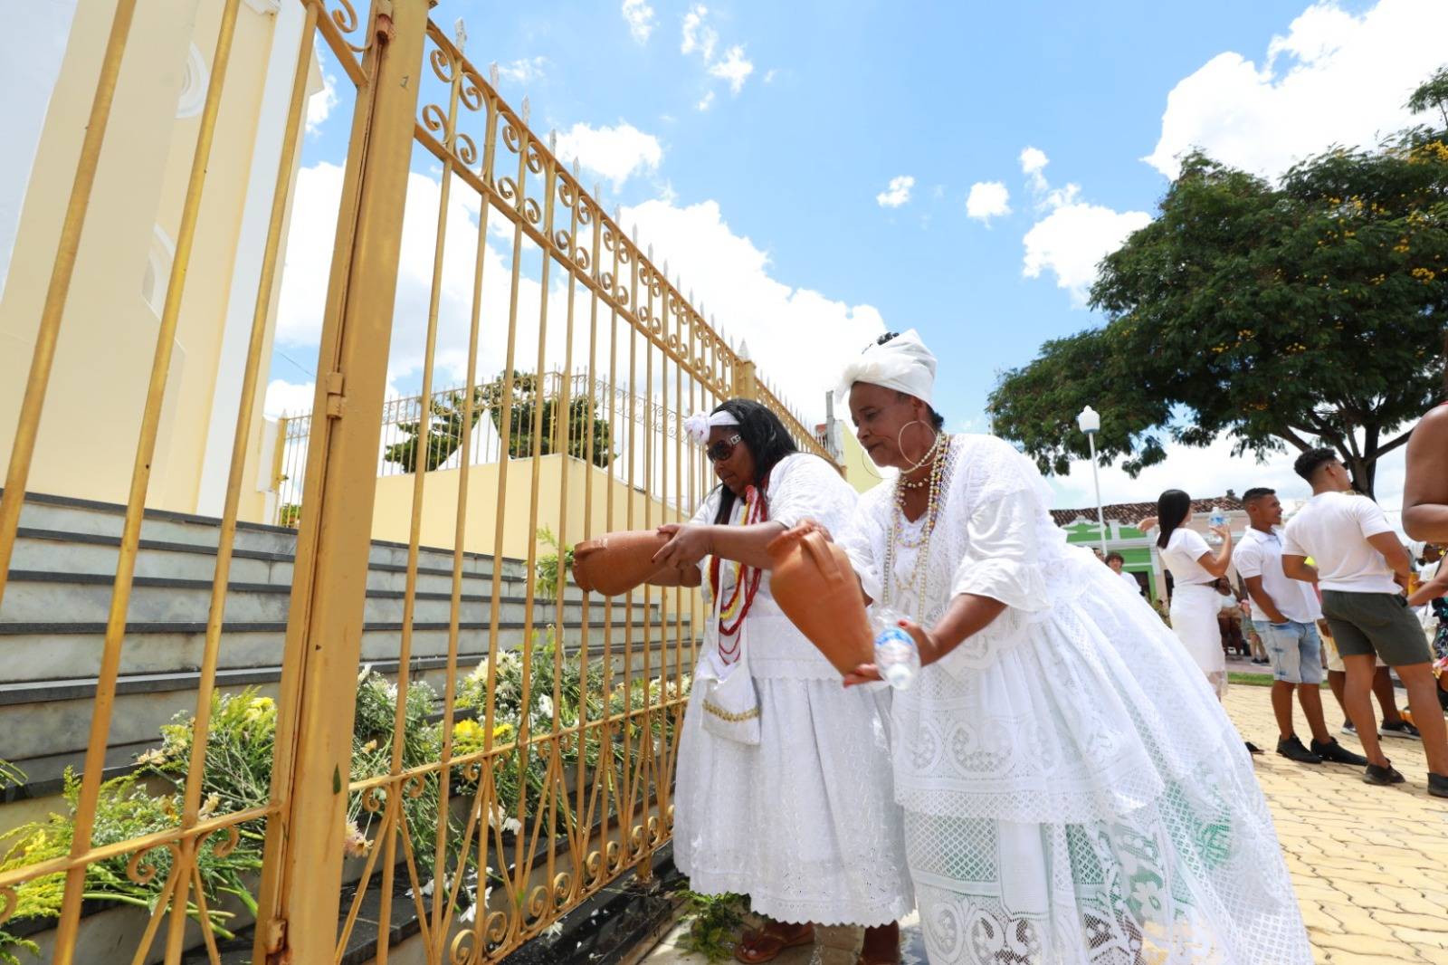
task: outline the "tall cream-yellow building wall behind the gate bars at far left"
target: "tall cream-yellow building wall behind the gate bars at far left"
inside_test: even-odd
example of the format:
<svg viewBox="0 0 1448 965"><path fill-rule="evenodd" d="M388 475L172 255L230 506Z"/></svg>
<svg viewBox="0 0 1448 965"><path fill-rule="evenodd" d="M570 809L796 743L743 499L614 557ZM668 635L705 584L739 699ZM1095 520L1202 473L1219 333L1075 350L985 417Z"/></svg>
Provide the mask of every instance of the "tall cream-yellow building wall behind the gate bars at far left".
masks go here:
<svg viewBox="0 0 1448 965"><path fill-rule="evenodd" d="M0 419L0 461L9 458L13 442L13 413L26 384L114 6L114 0L77 4L26 187L0 300L0 413L12 413ZM32 491L126 498L159 326L159 310L143 298L142 280L155 227L172 241L178 233L200 114L177 117L177 101L193 42L210 70L222 6L222 0L138 4L41 419ZM172 346L149 506L193 511L197 504L272 29L272 16L240 4ZM259 425L249 442L261 459ZM265 498L251 493L255 478L253 467L243 488L248 504Z"/></svg>

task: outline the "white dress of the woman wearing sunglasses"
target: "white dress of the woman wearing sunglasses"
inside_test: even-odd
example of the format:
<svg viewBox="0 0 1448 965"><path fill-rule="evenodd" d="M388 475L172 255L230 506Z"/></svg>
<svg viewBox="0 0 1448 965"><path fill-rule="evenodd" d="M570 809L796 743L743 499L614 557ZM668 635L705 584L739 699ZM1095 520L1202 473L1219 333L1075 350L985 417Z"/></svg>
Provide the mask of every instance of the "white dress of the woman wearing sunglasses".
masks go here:
<svg viewBox="0 0 1448 965"><path fill-rule="evenodd" d="M854 490L812 455L780 461L766 498L770 520L794 526L811 517L833 532L856 503ZM711 494L694 522L712 522L718 500ZM734 522L741 510L737 500ZM754 911L780 922L895 922L915 901L891 785L888 694L843 687L779 610L767 572L746 620L760 742L704 730L702 688L695 688L679 738L675 864L694 891L747 894Z"/></svg>

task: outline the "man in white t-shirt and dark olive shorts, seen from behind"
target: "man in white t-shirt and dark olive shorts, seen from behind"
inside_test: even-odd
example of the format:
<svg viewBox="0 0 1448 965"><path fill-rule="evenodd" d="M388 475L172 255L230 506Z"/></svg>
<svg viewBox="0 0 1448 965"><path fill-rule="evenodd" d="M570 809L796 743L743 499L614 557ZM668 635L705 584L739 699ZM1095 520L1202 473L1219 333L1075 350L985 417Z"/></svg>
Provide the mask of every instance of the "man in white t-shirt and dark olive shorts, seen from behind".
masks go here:
<svg viewBox="0 0 1448 965"><path fill-rule="evenodd" d="M1312 500L1287 523L1283 572L1322 588L1322 611L1347 668L1347 710L1367 751L1368 784L1400 784L1383 756L1368 691L1376 656L1397 671L1428 755L1428 793L1448 797L1448 727L1438 709L1428 642L1397 580L1407 580L1407 551L1377 503L1352 493L1332 449L1309 449L1293 468L1312 484ZM1316 567L1308 565L1312 556Z"/></svg>

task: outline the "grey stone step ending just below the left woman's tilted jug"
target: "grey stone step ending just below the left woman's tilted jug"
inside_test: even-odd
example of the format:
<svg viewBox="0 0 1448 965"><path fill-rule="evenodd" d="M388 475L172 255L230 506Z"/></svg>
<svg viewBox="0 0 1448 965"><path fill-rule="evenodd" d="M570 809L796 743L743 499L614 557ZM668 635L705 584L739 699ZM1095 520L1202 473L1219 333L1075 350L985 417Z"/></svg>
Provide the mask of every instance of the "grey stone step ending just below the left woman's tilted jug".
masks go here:
<svg viewBox="0 0 1448 965"><path fill-rule="evenodd" d="M405 574L384 574L379 580L403 582ZM450 580L442 591L414 594L413 619L424 623L446 622L452 611ZM110 613L114 578L110 574L46 572L12 569L4 601L0 603L0 624L45 623L64 614L67 622L104 623ZM517 582L510 587L517 591ZM463 593L460 619L469 623L492 619L494 604L498 619L517 623L526 619L527 597L502 596L494 601L491 582L469 587ZM479 593L481 591L481 593ZM526 587L524 587L526 593ZM407 594L403 590L368 590L362 619L368 623L400 622ZM164 577L138 577L133 581L126 611L127 620L136 623L204 623L211 601L211 584L206 580L172 580ZM226 594L224 617L233 623L285 622L291 607L291 587L272 582L232 582ZM602 598L594 598L594 607L602 607ZM533 601L533 619L537 623L555 617L556 601ZM643 604L636 604L643 609ZM656 614L657 603L649 604L649 613ZM582 601L565 601L562 620L582 619ZM6 671L0 671L6 674ZM6 677L0 677L0 681Z"/></svg>

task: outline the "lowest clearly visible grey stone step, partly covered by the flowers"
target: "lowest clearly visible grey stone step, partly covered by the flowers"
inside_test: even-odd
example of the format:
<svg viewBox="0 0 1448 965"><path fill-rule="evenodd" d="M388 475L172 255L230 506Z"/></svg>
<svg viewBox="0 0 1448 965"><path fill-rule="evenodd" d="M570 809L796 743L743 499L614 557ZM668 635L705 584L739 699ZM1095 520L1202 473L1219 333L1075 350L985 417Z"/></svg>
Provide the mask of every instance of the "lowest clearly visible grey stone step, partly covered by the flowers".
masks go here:
<svg viewBox="0 0 1448 965"><path fill-rule="evenodd" d="M673 639L662 636L657 629L649 638L644 638L641 626L634 632L637 642L631 649L615 645L607 653L614 672L637 674L647 664L653 675L657 675L660 668L673 674L679 664ZM644 639L650 640L647 646L643 645ZM685 665L689 662L688 652L688 638L683 638ZM368 662L374 671L395 677L398 668L395 653L394 649L390 659ZM487 655L488 651L481 648L459 652L458 678L472 672ZM568 656L578 659L576 653ZM602 667L605 659L602 640L597 643L589 640L589 659L595 667ZM426 681L439 694L446 687L446 655L414 655L408 667L414 681ZM168 723L178 711L194 713L198 680L197 672L133 674L119 678L107 745L155 740L161 724ZM256 687L261 694L275 697L279 681L279 665L222 669L216 674L216 690L227 694ZM33 681L0 690L0 733L6 735L6 759L25 769L30 758L83 752L88 740L94 704L94 677Z"/></svg>

